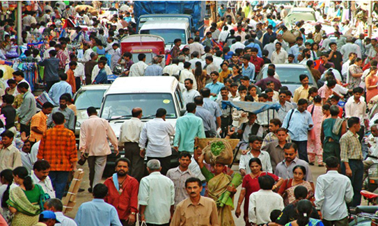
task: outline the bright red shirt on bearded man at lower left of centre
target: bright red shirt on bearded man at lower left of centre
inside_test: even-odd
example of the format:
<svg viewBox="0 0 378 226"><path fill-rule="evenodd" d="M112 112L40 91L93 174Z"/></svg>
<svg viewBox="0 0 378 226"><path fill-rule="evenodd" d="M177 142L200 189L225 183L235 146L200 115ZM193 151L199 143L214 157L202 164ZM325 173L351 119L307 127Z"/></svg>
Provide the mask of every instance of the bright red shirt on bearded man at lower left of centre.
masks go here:
<svg viewBox="0 0 378 226"><path fill-rule="evenodd" d="M104 184L108 187L108 195L104 200L116 207L121 220L126 220L132 212L138 213L139 182L134 177L127 175L123 182L122 193L119 193L114 186L113 177L109 177Z"/></svg>

